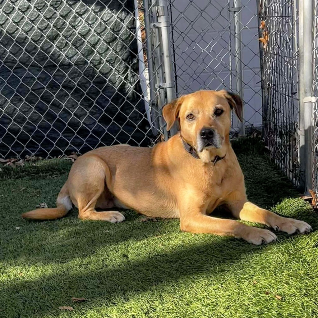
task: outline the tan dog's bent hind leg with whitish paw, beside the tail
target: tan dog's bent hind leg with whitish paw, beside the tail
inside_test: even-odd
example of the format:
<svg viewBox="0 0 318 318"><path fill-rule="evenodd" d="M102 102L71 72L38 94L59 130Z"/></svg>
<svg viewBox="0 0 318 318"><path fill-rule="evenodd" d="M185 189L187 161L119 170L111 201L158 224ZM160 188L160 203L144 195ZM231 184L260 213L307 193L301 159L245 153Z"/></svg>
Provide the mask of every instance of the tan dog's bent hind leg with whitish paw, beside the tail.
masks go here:
<svg viewBox="0 0 318 318"><path fill-rule="evenodd" d="M68 188L73 203L78 207L78 217L83 220L103 220L111 223L124 221L119 211L95 210L97 201L105 193L106 182L111 181L107 164L98 156L78 158L68 177Z"/></svg>

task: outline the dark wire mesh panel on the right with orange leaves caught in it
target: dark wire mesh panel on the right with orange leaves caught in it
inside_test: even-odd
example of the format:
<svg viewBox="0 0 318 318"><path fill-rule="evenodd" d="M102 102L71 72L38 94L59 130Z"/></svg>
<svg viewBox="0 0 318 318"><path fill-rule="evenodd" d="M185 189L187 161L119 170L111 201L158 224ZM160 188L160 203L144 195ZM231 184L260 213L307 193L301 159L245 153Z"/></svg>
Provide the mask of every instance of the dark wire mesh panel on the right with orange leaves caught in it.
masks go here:
<svg viewBox="0 0 318 318"><path fill-rule="evenodd" d="M263 137L273 161L299 185L298 12L293 0L259 0Z"/></svg>

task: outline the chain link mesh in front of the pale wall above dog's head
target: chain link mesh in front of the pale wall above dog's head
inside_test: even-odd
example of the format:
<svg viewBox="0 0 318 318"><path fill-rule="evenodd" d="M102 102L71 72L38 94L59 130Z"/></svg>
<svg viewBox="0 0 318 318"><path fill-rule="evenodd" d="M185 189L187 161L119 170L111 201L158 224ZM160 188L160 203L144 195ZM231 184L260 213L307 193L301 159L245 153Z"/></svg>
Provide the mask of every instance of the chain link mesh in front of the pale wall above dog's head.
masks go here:
<svg viewBox="0 0 318 318"><path fill-rule="evenodd" d="M235 3L238 1L169 1L176 90L178 96L198 89L225 88L240 93L244 100L245 127L260 128L262 104L256 3L239 1L237 9ZM241 74L236 59L241 63ZM238 81L244 93L238 92ZM238 126L237 119L233 118L234 133L240 129Z"/></svg>

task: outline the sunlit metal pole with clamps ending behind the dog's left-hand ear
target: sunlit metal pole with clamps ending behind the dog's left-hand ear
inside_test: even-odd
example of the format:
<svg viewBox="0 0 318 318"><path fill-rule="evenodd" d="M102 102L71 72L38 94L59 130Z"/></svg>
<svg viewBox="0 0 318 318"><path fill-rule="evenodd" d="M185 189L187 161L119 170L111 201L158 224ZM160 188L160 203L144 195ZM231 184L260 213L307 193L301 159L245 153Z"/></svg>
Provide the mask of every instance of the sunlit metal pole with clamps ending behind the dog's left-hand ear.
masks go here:
<svg viewBox="0 0 318 318"><path fill-rule="evenodd" d="M176 98L175 93L175 85L174 85L174 75L172 71L172 58L170 51L170 22L168 17L168 3L167 0L158 0L158 22L160 25L161 31L161 45L162 45L162 54L163 54L163 64L165 70L165 79L166 79L166 94L167 94L167 102L171 102ZM170 130L171 135L175 135L177 133L177 126L173 125Z"/></svg>

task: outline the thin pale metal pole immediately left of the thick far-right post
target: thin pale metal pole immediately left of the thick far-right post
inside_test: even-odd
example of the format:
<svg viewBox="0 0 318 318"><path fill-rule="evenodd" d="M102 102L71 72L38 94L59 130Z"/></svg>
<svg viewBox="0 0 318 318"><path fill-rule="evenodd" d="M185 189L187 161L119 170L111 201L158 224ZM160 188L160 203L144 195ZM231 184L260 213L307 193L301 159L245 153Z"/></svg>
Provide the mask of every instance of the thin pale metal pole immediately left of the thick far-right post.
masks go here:
<svg viewBox="0 0 318 318"><path fill-rule="evenodd" d="M297 1L299 6L299 119L298 119L298 137L299 137L299 164L300 176L299 187L300 191L306 192L306 164L305 164L305 119L304 119L304 11L301 0ZM295 12L297 11L295 6ZM297 26L296 26L297 27ZM295 32L295 34L297 34Z"/></svg>

